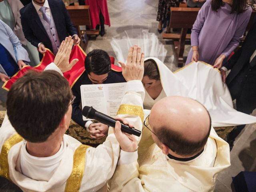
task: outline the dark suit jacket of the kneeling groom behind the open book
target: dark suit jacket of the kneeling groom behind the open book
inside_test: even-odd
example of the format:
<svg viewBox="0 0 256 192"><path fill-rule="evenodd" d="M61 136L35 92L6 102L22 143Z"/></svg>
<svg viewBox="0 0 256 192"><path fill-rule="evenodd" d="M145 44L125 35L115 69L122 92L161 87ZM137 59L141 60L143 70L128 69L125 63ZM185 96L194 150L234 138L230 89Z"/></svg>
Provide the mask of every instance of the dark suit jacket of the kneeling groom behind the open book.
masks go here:
<svg viewBox="0 0 256 192"><path fill-rule="evenodd" d="M126 82L124 77L122 76L122 72L115 72L111 70L108 74L107 79L103 82L103 84L108 83L122 83ZM80 78L78 78L77 82L72 87L73 95L76 96L74 103L72 104L72 119L77 122L80 126L84 127L86 121L83 120L82 110L80 109L81 102L81 85L91 85L92 82L88 78L88 74L85 71Z"/></svg>

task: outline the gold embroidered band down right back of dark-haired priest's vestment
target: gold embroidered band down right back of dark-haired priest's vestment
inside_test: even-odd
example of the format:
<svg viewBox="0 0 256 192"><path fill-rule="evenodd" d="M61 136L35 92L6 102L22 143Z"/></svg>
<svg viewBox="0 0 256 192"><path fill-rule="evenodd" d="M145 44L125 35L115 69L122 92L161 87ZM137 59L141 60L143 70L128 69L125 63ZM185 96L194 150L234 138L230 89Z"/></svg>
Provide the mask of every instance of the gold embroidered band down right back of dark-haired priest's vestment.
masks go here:
<svg viewBox="0 0 256 192"><path fill-rule="evenodd" d="M85 153L89 147L81 144L74 152L73 170L67 180L65 192L79 192L84 176Z"/></svg>

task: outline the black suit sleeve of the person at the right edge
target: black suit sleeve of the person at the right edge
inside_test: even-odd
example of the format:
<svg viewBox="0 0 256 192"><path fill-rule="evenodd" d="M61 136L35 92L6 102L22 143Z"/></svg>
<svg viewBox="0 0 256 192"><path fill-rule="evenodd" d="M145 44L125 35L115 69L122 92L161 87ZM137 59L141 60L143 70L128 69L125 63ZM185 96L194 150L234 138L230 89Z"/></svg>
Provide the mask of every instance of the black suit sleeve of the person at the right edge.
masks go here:
<svg viewBox="0 0 256 192"><path fill-rule="evenodd" d="M228 60L223 66L228 70L231 69L230 74L226 78L226 84L230 84L237 78L243 78L240 73L246 64L249 64L250 57L256 49L256 22L250 28L242 47Z"/></svg>

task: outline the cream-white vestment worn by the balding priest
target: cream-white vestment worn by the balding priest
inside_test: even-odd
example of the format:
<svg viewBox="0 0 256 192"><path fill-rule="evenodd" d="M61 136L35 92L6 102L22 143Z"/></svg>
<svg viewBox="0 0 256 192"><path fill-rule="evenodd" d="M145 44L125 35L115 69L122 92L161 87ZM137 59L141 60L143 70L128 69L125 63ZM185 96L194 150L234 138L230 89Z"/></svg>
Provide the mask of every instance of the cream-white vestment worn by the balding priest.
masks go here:
<svg viewBox="0 0 256 192"><path fill-rule="evenodd" d="M142 136L142 146L144 141ZM170 159L152 144L139 161L139 168L138 164L117 166L111 189L122 192L213 191L217 173L228 166L229 145L212 128L204 151L198 157L186 162ZM127 183L122 182L124 179Z"/></svg>

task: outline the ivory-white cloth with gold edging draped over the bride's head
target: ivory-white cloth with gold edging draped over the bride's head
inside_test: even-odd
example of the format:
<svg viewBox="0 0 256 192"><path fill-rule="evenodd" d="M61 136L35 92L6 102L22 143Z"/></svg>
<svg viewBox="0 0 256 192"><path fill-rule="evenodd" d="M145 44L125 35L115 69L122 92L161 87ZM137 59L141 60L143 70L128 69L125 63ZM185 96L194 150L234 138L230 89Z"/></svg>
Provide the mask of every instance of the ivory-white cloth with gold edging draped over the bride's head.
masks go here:
<svg viewBox="0 0 256 192"><path fill-rule="evenodd" d="M204 62L191 62L172 73L157 58L153 59L160 72L166 96L184 96L202 103L210 113L213 127L256 123L256 117L238 112L218 69Z"/></svg>

